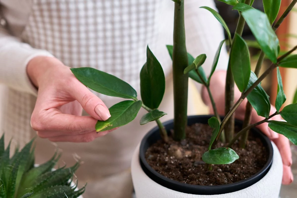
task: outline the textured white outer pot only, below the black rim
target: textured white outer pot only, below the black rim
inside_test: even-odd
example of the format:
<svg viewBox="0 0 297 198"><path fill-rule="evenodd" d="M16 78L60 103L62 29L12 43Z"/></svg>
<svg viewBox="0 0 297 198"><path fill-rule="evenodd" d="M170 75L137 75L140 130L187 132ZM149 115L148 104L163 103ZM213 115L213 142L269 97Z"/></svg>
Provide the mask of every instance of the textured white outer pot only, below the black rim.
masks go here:
<svg viewBox="0 0 297 198"><path fill-rule="evenodd" d="M282 182L282 158L277 146L272 142L273 161L270 170L257 183L245 189L226 194L197 195L186 194L165 188L151 180L143 172L139 161L139 147L132 157L131 172L136 198L278 198Z"/></svg>

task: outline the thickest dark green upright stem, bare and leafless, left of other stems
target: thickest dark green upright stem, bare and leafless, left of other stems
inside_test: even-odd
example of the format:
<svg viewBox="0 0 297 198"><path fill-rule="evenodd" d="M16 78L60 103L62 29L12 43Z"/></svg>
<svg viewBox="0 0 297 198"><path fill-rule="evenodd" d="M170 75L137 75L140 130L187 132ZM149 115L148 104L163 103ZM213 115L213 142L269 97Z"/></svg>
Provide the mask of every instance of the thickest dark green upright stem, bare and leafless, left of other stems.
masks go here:
<svg viewBox="0 0 297 198"><path fill-rule="evenodd" d="M174 5L173 27L173 95L174 95L174 139L185 138L187 126L188 74L184 69L188 66L186 35L184 28L184 0Z"/></svg>

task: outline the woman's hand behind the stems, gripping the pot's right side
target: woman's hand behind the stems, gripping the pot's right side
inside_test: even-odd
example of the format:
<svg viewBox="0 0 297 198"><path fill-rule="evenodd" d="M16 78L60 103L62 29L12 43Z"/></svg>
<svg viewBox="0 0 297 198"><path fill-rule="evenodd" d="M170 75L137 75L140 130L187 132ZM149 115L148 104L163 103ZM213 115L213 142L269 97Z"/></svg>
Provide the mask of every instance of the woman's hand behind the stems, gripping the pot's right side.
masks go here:
<svg viewBox="0 0 297 198"><path fill-rule="evenodd" d="M210 81L210 90L214 97L214 101L215 101L218 113L220 115L225 114L224 112L225 111L225 84L226 84L225 79L226 79L226 71L216 71L214 72ZM211 113L213 113L208 92L205 87L202 88L201 95L202 95L203 101L205 102L206 105L208 105ZM241 96L241 92L238 90L238 88L235 85L234 101L237 101L237 99L240 96ZM244 120L246 104L247 104L247 99L245 99L236 109L235 117L237 119ZM276 112L275 107L271 105L270 115L275 112ZM251 123L256 123L263 119L264 119L263 117L257 115L257 112L255 111L255 109L252 110ZM273 118L271 118L271 120L281 121L282 118L280 115L276 115ZM272 131L268 127L268 123L260 124L257 126L257 128L259 128L264 134L266 134L277 145L277 148L279 149L279 152L282 156L282 162L283 162L283 168L284 168L282 183L283 184L292 183L293 182L293 174L291 170L292 153L290 149L289 140L285 136Z"/></svg>

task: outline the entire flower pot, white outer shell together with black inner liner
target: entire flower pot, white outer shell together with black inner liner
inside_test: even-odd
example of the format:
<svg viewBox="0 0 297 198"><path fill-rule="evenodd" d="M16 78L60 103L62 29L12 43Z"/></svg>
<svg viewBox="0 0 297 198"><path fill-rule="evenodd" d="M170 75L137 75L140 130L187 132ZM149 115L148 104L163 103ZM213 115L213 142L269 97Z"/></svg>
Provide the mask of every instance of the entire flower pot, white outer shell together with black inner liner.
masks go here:
<svg viewBox="0 0 297 198"><path fill-rule="evenodd" d="M188 124L207 123L210 115L188 117ZM241 126L240 121L236 125ZM164 123L167 131L173 128L173 120ZM131 172L137 198L278 198L282 182L282 158L276 147L258 129L255 133L267 148L269 157L265 166L250 178L218 186L198 186L171 180L153 170L145 159L150 145L161 139L158 127L149 131L132 157Z"/></svg>

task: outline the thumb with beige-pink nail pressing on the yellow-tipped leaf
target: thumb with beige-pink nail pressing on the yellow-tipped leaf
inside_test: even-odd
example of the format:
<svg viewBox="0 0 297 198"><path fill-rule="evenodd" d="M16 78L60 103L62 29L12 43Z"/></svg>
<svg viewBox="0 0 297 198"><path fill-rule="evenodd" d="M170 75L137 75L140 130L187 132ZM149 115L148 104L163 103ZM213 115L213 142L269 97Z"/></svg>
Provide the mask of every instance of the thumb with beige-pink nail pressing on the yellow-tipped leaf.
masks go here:
<svg viewBox="0 0 297 198"><path fill-rule="evenodd" d="M71 96L76 99L83 109L97 120L105 121L110 118L110 113L104 102L93 94L85 85L75 84L70 91Z"/></svg>

